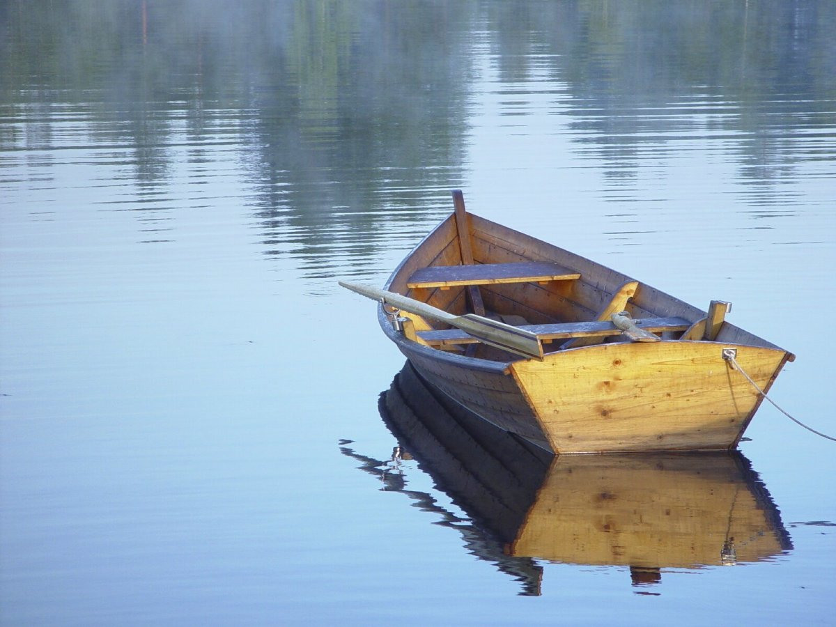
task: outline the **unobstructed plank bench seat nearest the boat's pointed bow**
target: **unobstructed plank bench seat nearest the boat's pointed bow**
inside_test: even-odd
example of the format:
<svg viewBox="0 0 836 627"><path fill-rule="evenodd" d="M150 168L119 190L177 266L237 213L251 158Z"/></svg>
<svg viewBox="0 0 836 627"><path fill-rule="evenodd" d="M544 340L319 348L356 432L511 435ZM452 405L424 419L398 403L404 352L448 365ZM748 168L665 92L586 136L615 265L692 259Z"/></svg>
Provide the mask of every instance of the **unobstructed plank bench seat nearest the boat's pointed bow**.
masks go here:
<svg viewBox="0 0 836 627"><path fill-rule="evenodd" d="M580 273L555 263L477 263L465 266L421 268L406 282L408 288L453 288L492 283L548 283L580 278Z"/></svg>

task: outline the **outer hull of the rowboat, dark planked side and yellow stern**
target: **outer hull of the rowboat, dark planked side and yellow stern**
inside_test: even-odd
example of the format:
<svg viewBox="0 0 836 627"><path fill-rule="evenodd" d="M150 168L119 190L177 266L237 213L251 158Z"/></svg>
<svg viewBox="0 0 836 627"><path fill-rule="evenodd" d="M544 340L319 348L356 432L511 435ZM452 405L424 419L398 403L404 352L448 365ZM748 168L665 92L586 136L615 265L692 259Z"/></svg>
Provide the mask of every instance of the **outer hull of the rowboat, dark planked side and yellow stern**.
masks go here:
<svg viewBox="0 0 836 627"><path fill-rule="evenodd" d="M400 348L437 390L556 454L732 450L761 402L722 358L729 344L601 344L503 370ZM763 390L785 359L780 349L737 347L737 362Z"/></svg>

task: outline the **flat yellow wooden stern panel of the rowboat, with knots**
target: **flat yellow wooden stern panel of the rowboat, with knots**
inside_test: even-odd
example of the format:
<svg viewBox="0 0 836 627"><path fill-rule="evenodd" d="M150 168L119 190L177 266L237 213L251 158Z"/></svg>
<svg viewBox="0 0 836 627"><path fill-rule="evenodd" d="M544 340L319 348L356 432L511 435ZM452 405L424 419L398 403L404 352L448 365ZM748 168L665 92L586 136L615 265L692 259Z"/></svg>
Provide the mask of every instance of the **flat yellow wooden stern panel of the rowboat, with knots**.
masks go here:
<svg viewBox="0 0 836 627"><path fill-rule="evenodd" d="M732 446L757 392L722 359L727 344L601 344L512 364L555 452L669 451ZM768 385L785 352L737 346Z"/></svg>

